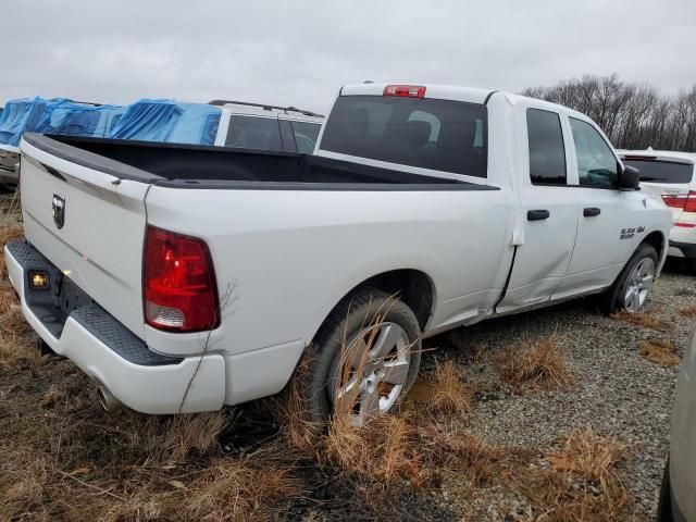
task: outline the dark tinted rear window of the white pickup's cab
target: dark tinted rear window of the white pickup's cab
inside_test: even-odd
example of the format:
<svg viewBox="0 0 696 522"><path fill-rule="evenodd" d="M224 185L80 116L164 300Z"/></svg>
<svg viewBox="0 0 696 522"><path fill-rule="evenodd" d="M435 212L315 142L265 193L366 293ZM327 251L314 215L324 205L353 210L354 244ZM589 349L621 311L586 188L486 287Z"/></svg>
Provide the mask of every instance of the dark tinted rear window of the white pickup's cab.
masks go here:
<svg viewBox="0 0 696 522"><path fill-rule="evenodd" d="M487 110L428 98L341 96L326 121L321 148L486 177Z"/></svg>

